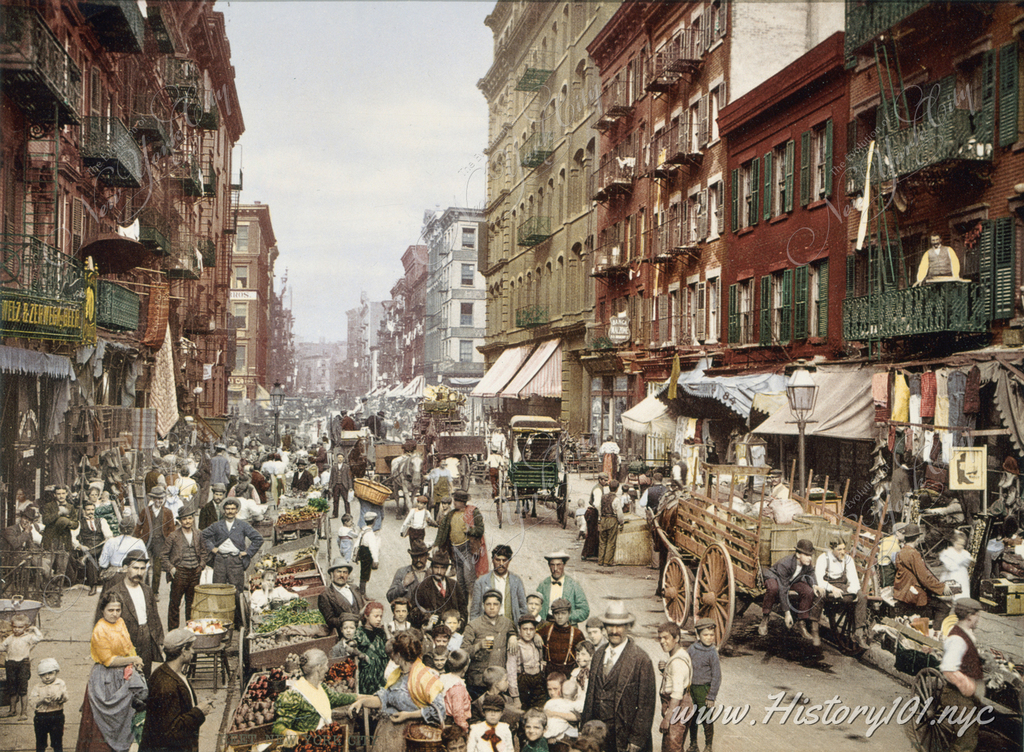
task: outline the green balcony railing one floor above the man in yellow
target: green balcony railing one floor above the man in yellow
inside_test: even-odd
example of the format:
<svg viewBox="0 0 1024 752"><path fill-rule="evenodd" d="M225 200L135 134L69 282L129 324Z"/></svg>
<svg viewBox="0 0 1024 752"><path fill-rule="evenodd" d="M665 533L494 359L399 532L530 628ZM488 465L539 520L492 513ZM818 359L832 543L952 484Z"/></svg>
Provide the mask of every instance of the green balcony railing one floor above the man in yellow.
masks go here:
<svg viewBox="0 0 1024 752"><path fill-rule="evenodd" d="M874 144L871 182L886 182L927 172L946 162L982 163L992 159L992 128L982 121L990 113L947 110L923 123L885 134ZM979 136L987 140L979 140ZM859 147L847 157L847 193L864 190L867 147Z"/></svg>

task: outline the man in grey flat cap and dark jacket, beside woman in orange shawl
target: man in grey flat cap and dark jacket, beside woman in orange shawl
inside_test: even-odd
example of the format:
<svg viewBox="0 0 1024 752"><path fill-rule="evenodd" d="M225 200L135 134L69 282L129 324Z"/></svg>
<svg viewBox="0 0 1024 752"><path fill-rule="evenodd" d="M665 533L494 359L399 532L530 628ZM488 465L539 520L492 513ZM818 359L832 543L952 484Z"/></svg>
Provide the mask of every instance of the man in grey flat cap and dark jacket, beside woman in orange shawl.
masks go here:
<svg viewBox="0 0 1024 752"><path fill-rule="evenodd" d="M200 726L213 712L213 703L202 705L185 671L196 657L196 634L173 629L164 637L164 663L150 679L145 723L139 752L198 752Z"/></svg>

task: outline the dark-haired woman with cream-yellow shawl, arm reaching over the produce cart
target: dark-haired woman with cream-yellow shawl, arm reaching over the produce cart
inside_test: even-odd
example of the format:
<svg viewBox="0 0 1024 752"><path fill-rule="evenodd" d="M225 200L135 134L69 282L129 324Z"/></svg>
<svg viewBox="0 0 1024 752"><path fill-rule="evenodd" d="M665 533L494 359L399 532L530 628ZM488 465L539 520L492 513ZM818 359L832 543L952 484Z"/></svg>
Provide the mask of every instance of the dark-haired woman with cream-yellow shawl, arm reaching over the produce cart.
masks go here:
<svg viewBox="0 0 1024 752"><path fill-rule="evenodd" d="M377 726L371 752L403 752L410 726L429 724L437 730L444 723L444 687L437 674L427 668L420 656L423 642L412 631L399 632L392 641L394 662L398 665L384 688L371 697L360 697L353 712L360 707L380 708L384 717Z"/></svg>

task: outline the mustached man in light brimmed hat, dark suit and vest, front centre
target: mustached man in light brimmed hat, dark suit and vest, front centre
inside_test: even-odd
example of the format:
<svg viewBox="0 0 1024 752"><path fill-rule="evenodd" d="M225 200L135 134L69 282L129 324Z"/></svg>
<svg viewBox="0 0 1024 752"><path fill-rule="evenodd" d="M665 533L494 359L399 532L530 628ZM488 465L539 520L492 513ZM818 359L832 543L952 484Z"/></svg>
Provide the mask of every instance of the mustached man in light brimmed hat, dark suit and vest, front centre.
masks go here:
<svg viewBox="0 0 1024 752"><path fill-rule="evenodd" d="M648 752L657 693L654 666L629 636L634 618L623 601L610 601L601 621L608 641L594 655L582 722L604 721L609 752Z"/></svg>

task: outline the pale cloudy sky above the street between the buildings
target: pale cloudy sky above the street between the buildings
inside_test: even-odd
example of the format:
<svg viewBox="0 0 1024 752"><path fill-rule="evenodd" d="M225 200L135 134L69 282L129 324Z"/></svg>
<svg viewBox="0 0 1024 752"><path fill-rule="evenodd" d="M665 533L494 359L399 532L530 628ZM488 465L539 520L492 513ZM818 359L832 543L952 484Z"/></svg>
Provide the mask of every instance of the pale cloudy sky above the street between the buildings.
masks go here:
<svg viewBox="0 0 1024 752"><path fill-rule="evenodd" d="M245 133L242 202L270 207L295 336L345 339L390 300L423 215L485 201L490 2L220 1Z"/></svg>

